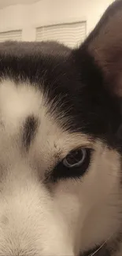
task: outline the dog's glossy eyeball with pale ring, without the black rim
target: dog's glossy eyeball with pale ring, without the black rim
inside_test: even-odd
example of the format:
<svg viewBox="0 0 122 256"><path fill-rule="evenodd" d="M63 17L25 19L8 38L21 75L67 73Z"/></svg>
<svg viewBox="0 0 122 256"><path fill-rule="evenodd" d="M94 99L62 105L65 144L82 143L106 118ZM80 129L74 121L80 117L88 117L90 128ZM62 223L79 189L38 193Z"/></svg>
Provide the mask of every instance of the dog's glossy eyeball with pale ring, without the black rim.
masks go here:
<svg viewBox="0 0 122 256"><path fill-rule="evenodd" d="M71 151L63 160L63 165L68 168L79 167L87 158L87 148Z"/></svg>

